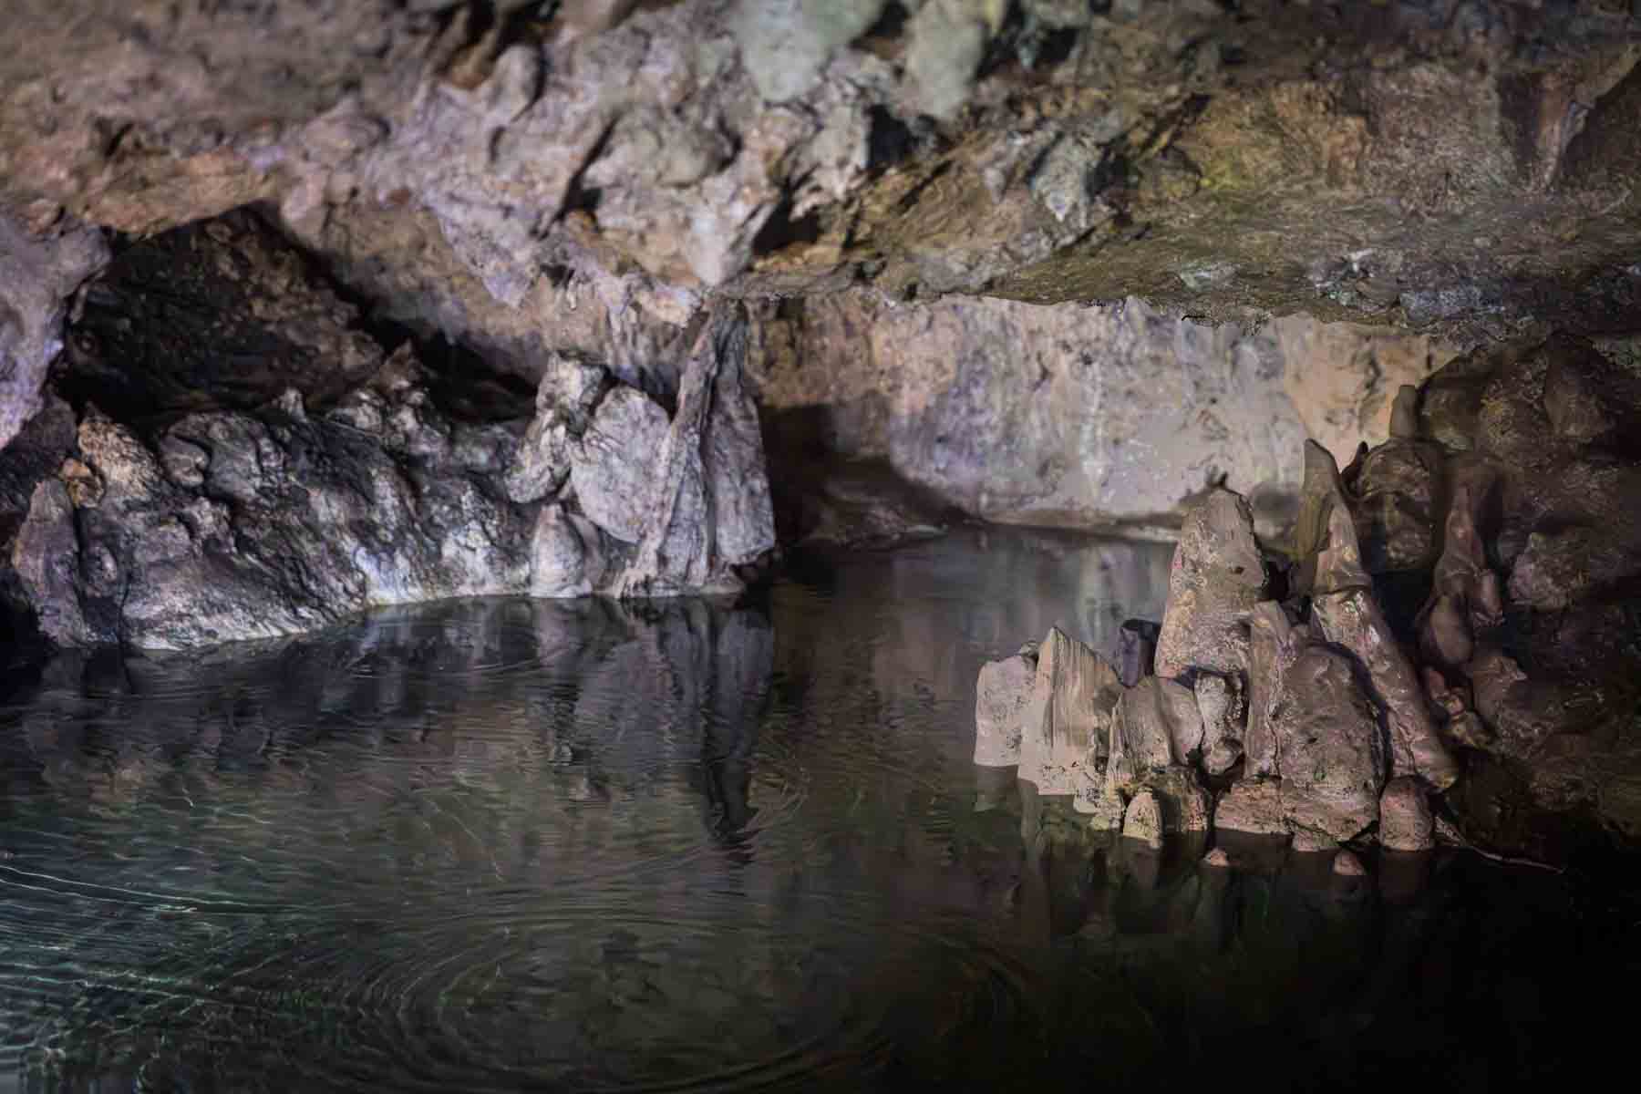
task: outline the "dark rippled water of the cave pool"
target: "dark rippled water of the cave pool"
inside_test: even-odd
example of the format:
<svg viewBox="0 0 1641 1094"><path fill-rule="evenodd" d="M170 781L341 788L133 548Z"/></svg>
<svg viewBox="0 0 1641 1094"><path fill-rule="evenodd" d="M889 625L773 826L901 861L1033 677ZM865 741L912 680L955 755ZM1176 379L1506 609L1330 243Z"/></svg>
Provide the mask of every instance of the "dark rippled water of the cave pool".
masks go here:
<svg viewBox="0 0 1641 1094"><path fill-rule="evenodd" d="M1200 869L970 766L980 661L1113 645L1167 566L976 533L735 609L20 666L0 1091L1482 1091L1623 1045L1621 892Z"/></svg>

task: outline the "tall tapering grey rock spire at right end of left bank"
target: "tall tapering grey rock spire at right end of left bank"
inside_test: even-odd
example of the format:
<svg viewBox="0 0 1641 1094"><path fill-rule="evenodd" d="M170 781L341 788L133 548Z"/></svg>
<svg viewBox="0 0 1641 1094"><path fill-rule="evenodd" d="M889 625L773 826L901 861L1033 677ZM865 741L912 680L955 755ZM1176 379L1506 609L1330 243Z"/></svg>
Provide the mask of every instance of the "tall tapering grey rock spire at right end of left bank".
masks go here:
<svg viewBox="0 0 1641 1094"><path fill-rule="evenodd" d="M702 323L660 454L653 463L635 461L650 471L637 494L643 500L635 513L642 520L637 551L614 581L617 595L734 592L743 584L737 569L760 564L775 549L763 438L743 384L745 361L747 320L738 308ZM614 397L606 395L599 418ZM597 431L594 420L587 436ZM637 449L648 451L655 449ZM635 451L624 456L632 461ZM579 464L571 482L581 497ZM619 510L614 504L607 508ZM596 512L587 515L615 535Z"/></svg>

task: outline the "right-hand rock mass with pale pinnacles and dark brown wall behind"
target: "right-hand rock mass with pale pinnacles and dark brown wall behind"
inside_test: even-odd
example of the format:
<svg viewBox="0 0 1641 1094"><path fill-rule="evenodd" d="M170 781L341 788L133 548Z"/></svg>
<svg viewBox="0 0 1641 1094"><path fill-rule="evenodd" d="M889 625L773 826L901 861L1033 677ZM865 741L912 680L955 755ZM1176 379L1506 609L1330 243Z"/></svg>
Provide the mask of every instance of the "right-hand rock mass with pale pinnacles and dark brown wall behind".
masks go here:
<svg viewBox="0 0 1641 1094"><path fill-rule="evenodd" d="M1283 554L1206 494L1116 663L1050 630L981 669L975 763L1147 841L1634 846L1638 382L1574 338L1460 358L1342 472L1306 443Z"/></svg>

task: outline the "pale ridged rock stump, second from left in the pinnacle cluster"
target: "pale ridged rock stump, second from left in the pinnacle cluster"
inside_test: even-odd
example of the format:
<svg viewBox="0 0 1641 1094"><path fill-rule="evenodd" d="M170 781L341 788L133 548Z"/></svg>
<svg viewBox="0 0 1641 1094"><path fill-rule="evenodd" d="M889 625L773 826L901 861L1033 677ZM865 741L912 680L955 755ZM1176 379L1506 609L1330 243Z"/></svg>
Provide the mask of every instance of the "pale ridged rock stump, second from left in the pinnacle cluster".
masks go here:
<svg viewBox="0 0 1641 1094"><path fill-rule="evenodd" d="M1037 648L1019 777L1039 794L1090 794L1121 695L1116 671L1098 653L1050 628Z"/></svg>

